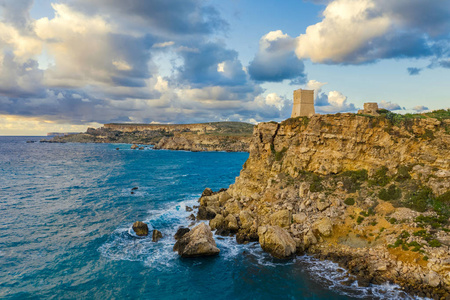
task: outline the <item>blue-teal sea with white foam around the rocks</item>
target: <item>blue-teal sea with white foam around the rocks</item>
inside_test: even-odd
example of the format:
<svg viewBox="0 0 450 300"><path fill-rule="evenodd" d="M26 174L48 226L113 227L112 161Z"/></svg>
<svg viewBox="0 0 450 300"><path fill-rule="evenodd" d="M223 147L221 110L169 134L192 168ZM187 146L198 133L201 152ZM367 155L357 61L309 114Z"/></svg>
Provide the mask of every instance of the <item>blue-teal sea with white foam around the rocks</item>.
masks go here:
<svg viewBox="0 0 450 300"><path fill-rule="evenodd" d="M0 299L410 299L392 285L345 286L334 263L277 260L228 237L215 236L217 257L178 257L186 206L233 183L247 153L27 140L39 138L0 137ZM163 239L134 237L137 220Z"/></svg>

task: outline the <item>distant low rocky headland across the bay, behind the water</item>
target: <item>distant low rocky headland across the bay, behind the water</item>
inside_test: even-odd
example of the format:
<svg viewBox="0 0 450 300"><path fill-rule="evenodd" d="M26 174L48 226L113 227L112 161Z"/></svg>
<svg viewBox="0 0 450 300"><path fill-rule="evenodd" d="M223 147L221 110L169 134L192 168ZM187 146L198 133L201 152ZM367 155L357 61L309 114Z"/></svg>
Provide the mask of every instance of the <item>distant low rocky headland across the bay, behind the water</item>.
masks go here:
<svg viewBox="0 0 450 300"><path fill-rule="evenodd" d="M51 142L127 143L155 149L248 151L253 125L241 122L201 124L105 124L85 133L54 137Z"/></svg>

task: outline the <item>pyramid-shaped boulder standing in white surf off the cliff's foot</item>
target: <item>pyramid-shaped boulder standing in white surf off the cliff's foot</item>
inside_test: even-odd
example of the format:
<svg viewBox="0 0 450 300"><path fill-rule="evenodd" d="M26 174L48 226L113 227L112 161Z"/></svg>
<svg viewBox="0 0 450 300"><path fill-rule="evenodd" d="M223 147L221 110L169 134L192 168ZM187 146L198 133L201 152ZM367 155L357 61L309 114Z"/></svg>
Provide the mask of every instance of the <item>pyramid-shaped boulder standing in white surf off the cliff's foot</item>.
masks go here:
<svg viewBox="0 0 450 300"><path fill-rule="evenodd" d="M200 223L190 232L184 234L173 246L181 257L199 257L219 254L211 228L205 223Z"/></svg>

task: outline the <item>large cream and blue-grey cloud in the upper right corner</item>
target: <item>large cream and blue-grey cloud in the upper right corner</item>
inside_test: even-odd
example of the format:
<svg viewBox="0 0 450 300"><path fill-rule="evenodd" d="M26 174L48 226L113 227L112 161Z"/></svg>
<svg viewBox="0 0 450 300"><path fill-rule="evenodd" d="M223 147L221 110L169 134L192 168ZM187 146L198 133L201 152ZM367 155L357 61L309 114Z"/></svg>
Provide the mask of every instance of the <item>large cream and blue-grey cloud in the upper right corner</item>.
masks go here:
<svg viewBox="0 0 450 300"><path fill-rule="evenodd" d="M322 15L297 38L299 59L363 64L450 55L448 1L334 0Z"/></svg>

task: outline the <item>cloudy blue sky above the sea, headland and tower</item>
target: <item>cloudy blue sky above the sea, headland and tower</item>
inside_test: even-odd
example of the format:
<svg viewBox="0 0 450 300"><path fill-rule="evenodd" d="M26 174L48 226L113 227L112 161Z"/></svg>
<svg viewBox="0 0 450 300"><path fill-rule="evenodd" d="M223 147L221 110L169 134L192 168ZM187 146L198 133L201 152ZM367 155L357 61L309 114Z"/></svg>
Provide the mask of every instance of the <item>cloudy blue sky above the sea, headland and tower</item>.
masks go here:
<svg viewBox="0 0 450 300"><path fill-rule="evenodd" d="M450 0L0 0L0 135L450 106Z"/></svg>

